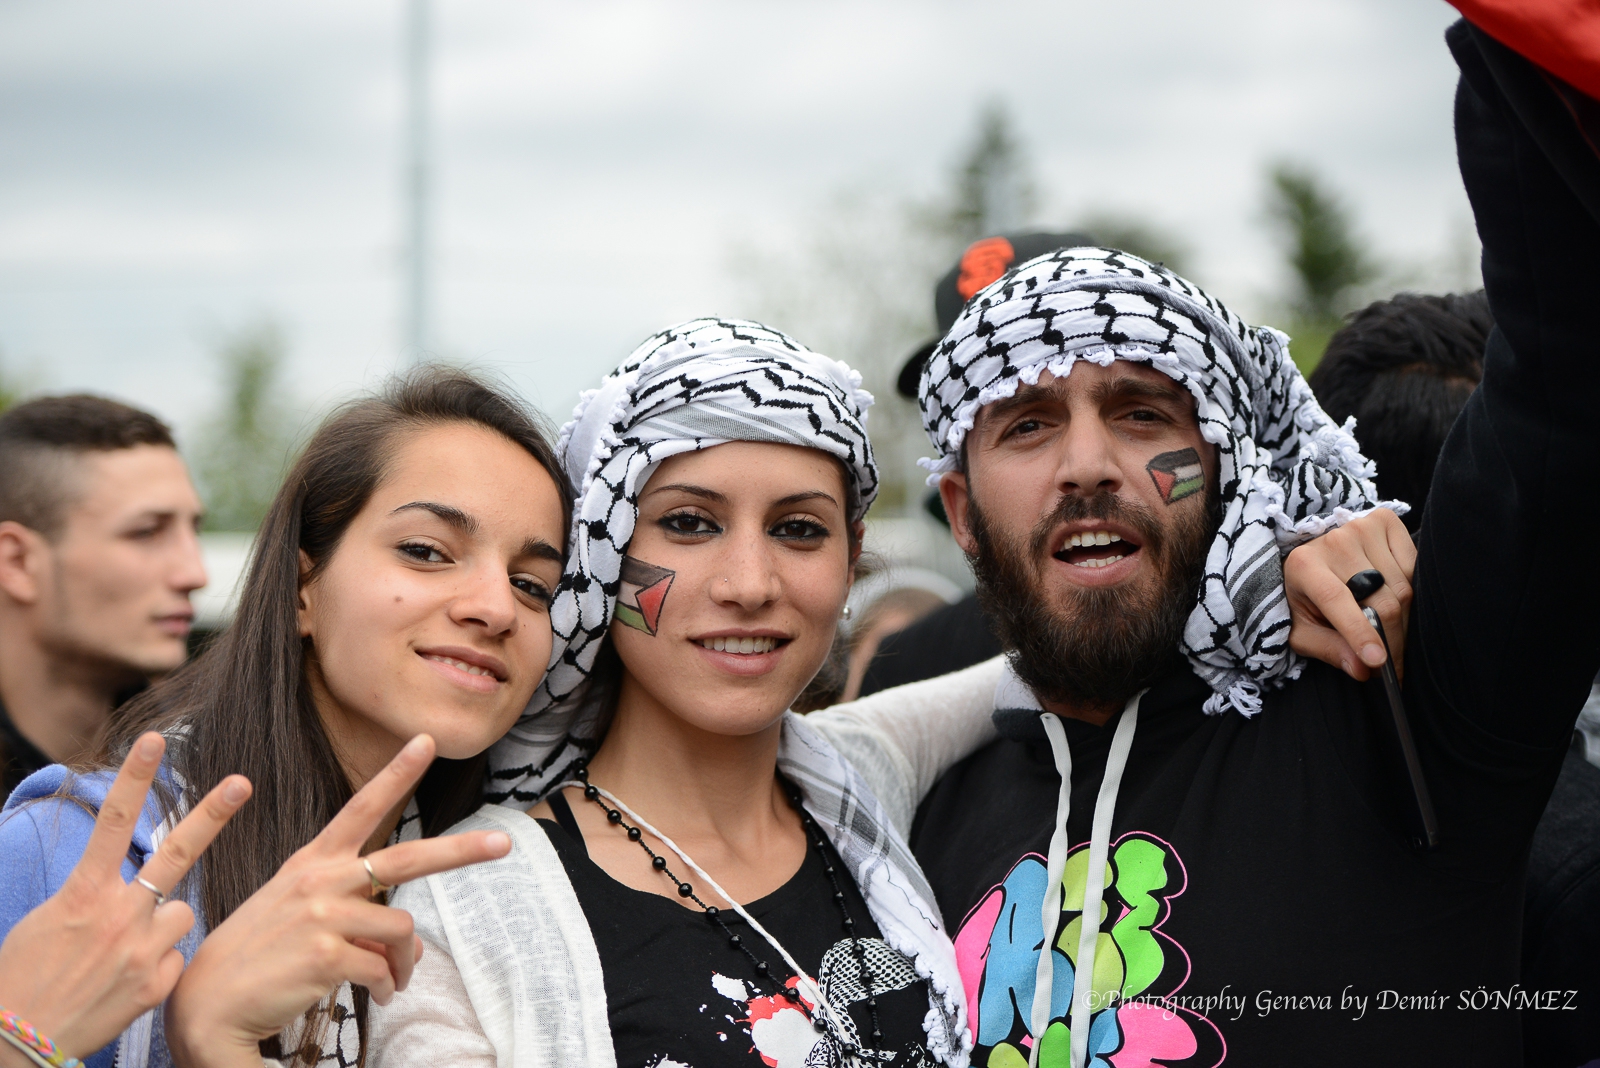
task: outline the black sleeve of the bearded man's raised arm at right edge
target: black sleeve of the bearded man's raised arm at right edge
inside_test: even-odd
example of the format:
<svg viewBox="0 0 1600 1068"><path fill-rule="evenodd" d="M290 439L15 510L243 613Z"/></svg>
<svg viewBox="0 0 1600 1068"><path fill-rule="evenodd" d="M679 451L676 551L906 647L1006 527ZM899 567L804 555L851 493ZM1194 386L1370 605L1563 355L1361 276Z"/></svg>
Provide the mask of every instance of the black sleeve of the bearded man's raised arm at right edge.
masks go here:
<svg viewBox="0 0 1600 1068"><path fill-rule="evenodd" d="M1600 160L1547 75L1466 22L1448 42L1496 329L1427 499L1406 703L1446 777L1538 793L1600 665L1600 225L1578 192Z"/></svg>

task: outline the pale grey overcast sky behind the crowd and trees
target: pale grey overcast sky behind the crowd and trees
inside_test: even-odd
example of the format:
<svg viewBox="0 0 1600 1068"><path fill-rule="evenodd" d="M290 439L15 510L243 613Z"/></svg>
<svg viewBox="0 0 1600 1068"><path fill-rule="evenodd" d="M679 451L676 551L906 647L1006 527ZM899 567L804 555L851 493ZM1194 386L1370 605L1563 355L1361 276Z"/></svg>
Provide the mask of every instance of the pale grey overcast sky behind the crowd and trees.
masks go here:
<svg viewBox="0 0 1600 1068"><path fill-rule="evenodd" d="M282 325L307 411L395 366L402 0L5 0L0 363L192 428ZM563 417L731 249L842 187L926 195L984 101L1040 222L1146 216L1246 313L1304 160L1418 278L1470 251L1440 0L437 3L435 341ZM1432 272L1432 273L1429 273ZM931 304L931 301L930 301ZM931 310L930 310L931 325ZM803 341L803 339L802 339Z"/></svg>

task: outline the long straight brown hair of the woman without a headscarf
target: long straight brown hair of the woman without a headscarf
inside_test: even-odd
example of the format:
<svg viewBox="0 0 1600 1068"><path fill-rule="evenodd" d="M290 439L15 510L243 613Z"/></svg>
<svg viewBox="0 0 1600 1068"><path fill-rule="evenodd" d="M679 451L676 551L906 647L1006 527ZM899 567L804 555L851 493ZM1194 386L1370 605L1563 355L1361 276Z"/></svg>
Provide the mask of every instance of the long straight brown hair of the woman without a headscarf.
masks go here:
<svg viewBox="0 0 1600 1068"><path fill-rule="evenodd" d="M141 732L165 732L171 769L190 804L235 772L254 785L250 804L198 865L206 927L227 919L352 796L306 683L296 616L299 553L312 561L306 580L320 574L405 438L453 422L486 427L526 449L555 480L566 529L573 494L541 420L507 392L466 371L421 368L322 424L267 510L232 625L198 657L125 705L106 735L102 756L112 763ZM424 835L437 835L477 809L483 766L483 755L434 761L416 793ZM365 1001L358 996L358 1009ZM307 1039L328 1022L326 1007L314 1015L325 1018L312 1020L320 1026L307 1028ZM358 1025L363 1017L358 1012ZM365 1060L365 1026L358 1030ZM307 1046L291 1052L315 1063L317 1050Z"/></svg>

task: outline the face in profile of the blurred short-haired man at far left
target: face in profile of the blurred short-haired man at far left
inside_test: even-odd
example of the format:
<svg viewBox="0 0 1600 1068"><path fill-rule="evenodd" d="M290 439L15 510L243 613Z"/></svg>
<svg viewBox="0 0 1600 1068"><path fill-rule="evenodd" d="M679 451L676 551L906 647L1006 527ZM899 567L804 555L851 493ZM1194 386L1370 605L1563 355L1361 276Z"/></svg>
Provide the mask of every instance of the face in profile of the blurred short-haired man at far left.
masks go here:
<svg viewBox="0 0 1600 1068"><path fill-rule="evenodd" d="M184 662L203 587L200 497L174 449L85 452L66 523L45 548L40 640L91 670L157 675Z"/></svg>

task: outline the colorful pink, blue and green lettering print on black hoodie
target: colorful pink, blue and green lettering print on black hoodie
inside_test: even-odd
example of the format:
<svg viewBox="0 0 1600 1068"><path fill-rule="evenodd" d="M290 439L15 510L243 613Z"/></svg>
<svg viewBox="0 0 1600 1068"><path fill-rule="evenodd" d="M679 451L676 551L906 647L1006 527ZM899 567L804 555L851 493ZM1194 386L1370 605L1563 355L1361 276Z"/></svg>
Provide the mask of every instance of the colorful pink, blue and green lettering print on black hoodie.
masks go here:
<svg viewBox="0 0 1600 1068"><path fill-rule="evenodd" d="M1077 982L1078 937L1090 847L1067 854L1062 907L1050 934L1054 969L1050 1017L1038 1044L1040 1068L1066 1068L1069 1017ZM1227 1054L1208 1018L1165 999L1189 982L1189 954L1160 931L1187 873L1178 852L1154 835L1118 838L1102 876L1101 934L1090 977L1090 1041L1085 1068L1216 1068ZM955 935L955 959L966 986L973 1065L1026 1068L1035 1036L1029 1031L1038 953L1045 946L1045 857L1016 862L989 891Z"/></svg>

